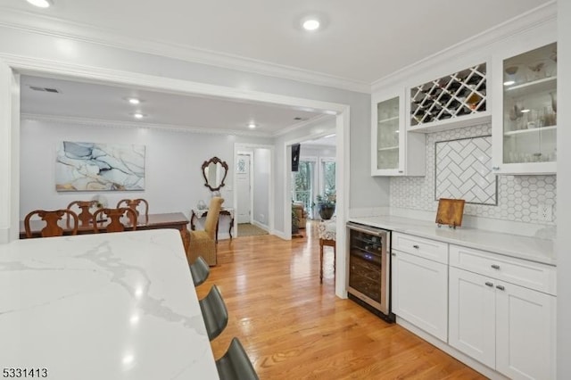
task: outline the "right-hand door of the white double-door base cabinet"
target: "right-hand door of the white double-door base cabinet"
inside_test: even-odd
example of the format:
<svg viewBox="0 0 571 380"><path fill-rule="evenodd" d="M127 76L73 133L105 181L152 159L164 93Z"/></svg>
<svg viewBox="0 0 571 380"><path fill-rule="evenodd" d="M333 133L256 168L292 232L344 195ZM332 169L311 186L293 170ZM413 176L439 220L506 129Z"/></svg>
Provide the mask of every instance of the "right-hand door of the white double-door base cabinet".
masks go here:
<svg viewBox="0 0 571 380"><path fill-rule="evenodd" d="M496 369L512 379L554 379L556 298L508 283L495 287Z"/></svg>

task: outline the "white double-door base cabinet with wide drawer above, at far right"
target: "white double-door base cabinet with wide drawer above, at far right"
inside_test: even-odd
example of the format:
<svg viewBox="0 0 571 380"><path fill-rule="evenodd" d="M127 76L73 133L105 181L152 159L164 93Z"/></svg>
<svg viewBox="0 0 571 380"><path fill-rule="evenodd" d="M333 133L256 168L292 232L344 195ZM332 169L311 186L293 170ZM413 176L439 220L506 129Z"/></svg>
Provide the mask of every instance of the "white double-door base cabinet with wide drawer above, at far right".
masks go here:
<svg viewBox="0 0 571 380"><path fill-rule="evenodd" d="M488 261L488 252L481 252L480 261L459 260L466 251L451 245L449 344L513 379L555 378L556 297L515 284L524 273L521 268L535 264L513 258ZM468 252L477 258L478 251ZM543 269L538 273L547 274L543 278L550 283L555 272Z"/></svg>

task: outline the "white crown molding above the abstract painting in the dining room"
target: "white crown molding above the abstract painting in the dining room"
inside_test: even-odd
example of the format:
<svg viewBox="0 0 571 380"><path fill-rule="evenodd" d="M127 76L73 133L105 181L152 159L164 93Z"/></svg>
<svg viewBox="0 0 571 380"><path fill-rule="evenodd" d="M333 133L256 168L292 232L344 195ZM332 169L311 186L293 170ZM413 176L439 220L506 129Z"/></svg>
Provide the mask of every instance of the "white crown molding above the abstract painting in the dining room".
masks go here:
<svg viewBox="0 0 571 380"><path fill-rule="evenodd" d="M255 132L249 130L240 131L234 129L177 126L170 124L145 123L145 121L103 120L103 119L78 118L73 116L45 115L45 114L24 113L24 112L21 113L21 120L72 124L74 126L79 126L79 127L145 128L145 129L157 129L162 131L180 132L180 133L201 133L207 135L225 135L225 136L233 135L233 136L265 137L265 138L273 137L273 135L269 133Z"/></svg>

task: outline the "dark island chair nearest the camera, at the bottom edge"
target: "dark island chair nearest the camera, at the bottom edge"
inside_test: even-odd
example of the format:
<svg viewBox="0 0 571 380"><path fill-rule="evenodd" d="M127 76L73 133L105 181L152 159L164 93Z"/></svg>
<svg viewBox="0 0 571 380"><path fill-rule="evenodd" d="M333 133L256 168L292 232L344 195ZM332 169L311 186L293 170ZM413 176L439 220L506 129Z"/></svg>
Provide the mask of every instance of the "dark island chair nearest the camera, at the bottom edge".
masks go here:
<svg viewBox="0 0 571 380"><path fill-rule="evenodd" d="M216 360L220 380L258 380L252 361L238 338L233 338L228 351Z"/></svg>

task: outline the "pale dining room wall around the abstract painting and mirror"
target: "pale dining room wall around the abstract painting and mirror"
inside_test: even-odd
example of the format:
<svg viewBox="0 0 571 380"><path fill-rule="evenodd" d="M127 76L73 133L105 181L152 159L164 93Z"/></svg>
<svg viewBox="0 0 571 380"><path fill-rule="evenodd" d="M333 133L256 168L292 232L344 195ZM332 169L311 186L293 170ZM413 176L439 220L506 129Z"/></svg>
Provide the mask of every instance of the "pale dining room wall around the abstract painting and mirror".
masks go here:
<svg viewBox="0 0 571 380"><path fill-rule="evenodd" d="M245 139L170 131L158 128L77 125L69 122L22 120L21 123L21 202L20 218L36 209L59 209L75 200L89 200L93 192L58 193L54 185L55 146L63 140L78 142L137 144L146 146L145 191L103 192L110 206L123 198L143 197L149 211L184 212L199 201L210 202L211 191L204 186L203 161L213 156L227 161L232 185L236 142L267 144L267 139ZM233 193L222 187L224 206L232 207ZM227 223L228 224L228 223ZM228 227L220 226L221 231ZM228 235L228 234L227 234Z"/></svg>

